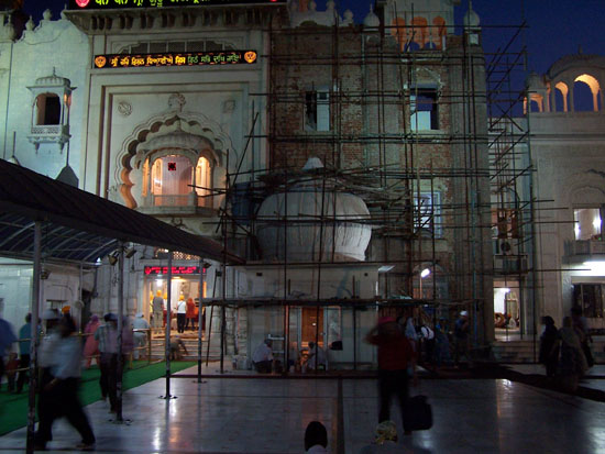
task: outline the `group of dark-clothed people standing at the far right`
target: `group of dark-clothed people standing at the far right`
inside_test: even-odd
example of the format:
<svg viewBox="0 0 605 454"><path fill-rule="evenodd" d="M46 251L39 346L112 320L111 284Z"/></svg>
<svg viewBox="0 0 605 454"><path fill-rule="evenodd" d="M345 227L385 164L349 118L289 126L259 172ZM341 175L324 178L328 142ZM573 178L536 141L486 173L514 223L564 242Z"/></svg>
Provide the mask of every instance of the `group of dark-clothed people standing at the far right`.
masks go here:
<svg viewBox="0 0 605 454"><path fill-rule="evenodd" d="M582 309L574 306L559 330L550 315L543 317L542 323L540 363L546 367L547 377L557 377L563 388L573 391L580 378L594 365L588 324Z"/></svg>

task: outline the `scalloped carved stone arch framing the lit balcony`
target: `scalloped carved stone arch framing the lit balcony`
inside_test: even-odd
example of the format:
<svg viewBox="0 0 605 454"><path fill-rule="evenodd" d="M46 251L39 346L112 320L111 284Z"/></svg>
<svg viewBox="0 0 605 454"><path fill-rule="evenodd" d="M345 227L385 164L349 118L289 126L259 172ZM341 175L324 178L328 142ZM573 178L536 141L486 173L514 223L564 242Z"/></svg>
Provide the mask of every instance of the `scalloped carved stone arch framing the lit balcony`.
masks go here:
<svg viewBox="0 0 605 454"><path fill-rule="evenodd" d="M132 188L136 182L132 178L133 170L142 170L142 165L153 150L146 150L145 143L155 141L156 152L166 155L174 153L204 156L209 159L212 168L223 167L227 163L227 153L231 153L231 162L238 162L231 139L222 131L220 125L201 113L183 112L178 115L156 115L134 129L132 134L125 137L121 152L116 156L116 181L120 187L120 193L129 208L136 208L136 197ZM175 143L177 142L177 143ZM140 173L138 173L140 174Z"/></svg>

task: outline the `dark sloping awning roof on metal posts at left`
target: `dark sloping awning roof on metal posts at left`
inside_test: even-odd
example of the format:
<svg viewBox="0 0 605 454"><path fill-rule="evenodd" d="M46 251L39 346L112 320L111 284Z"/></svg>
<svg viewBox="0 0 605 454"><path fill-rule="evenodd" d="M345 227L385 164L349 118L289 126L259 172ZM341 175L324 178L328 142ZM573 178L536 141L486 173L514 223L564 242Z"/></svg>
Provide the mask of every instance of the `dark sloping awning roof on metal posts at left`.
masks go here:
<svg viewBox="0 0 605 454"><path fill-rule="evenodd" d="M35 221L43 222L43 257L95 263L130 242L243 263L215 240L0 159L0 256L31 259Z"/></svg>

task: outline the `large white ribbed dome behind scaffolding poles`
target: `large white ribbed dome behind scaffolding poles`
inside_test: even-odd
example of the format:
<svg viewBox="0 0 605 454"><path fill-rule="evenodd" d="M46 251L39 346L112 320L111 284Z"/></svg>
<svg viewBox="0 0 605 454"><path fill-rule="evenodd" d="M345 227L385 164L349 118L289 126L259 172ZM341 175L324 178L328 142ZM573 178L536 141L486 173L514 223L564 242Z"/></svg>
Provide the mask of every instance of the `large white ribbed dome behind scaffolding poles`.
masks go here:
<svg viewBox="0 0 605 454"><path fill-rule="evenodd" d="M257 213L256 236L267 262L284 261L285 247L288 262L319 261L320 248L323 262L363 261L372 228L354 221L369 219L370 211L358 196L333 190L322 192L320 185L299 186L263 201Z"/></svg>

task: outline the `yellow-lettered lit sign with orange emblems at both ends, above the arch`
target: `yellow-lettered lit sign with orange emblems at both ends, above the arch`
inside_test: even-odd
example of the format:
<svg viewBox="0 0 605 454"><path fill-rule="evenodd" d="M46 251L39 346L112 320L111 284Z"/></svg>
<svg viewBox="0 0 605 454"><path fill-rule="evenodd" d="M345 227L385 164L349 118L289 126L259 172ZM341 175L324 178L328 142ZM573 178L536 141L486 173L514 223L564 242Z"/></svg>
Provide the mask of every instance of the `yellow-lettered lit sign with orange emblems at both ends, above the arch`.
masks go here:
<svg viewBox="0 0 605 454"><path fill-rule="evenodd" d="M95 68L142 68L157 66L252 65L255 51L185 52L163 54L96 55Z"/></svg>

